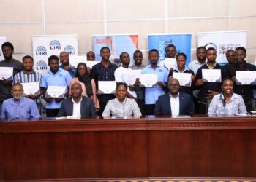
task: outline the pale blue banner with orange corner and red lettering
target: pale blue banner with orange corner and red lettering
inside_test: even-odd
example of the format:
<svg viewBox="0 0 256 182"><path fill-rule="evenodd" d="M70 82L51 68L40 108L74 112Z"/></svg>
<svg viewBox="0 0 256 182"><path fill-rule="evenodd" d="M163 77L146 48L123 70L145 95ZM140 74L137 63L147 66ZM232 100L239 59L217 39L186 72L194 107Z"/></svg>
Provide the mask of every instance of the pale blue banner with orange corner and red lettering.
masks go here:
<svg viewBox="0 0 256 182"><path fill-rule="evenodd" d="M107 35L107 36L93 36L94 39L94 53L96 60L102 60L100 57L100 49L102 47L110 48L110 61L120 64L119 55L121 52L128 52L133 63L133 53L138 50L138 35Z"/></svg>

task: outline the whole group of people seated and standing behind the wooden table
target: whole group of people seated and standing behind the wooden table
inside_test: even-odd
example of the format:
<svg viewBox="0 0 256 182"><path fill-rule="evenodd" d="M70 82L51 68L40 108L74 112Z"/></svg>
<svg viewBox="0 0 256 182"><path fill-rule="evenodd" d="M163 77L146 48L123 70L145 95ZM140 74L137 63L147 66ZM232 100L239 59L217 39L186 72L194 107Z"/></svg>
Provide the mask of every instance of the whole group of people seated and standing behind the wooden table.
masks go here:
<svg viewBox="0 0 256 182"><path fill-rule="evenodd" d="M246 63L246 49L237 47L228 50L228 64L220 66L216 62L217 50L210 47L198 47L197 60L186 66L187 55L176 52L173 44L165 47L166 58L175 58L177 67L167 68L159 63L159 52L149 50L149 65L144 66L143 53L136 50L134 64L130 66L127 52L120 55L121 66L110 62L110 49L102 47L102 60L92 68L86 63L78 63L77 68L69 63L68 52L59 57L50 55L50 69L41 75L34 71L31 56L23 57L22 63L12 58L14 51L10 42L1 45L4 60L0 67L12 67L13 79L0 80L1 118L40 117L41 98L46 102L46 116L61 117L126 117L152 114L191 115L191 114L246 114L251 110L255 85L237 85L236 71L256 71L255 66ZM94 52L87 53L87 60L95 60ZM61 65L60 65L61 62ZM222 82L207 82L203 79L203 70L219 69ZM127 85L124 74L132 70L141 70L140 74L157 74L153 87L143 87L140 78L134 84ZM174 73L191 74L191 84L181 86ZM116 81L116 93L98 92L99 81ZM39 92L23 95L23 83L39 82ZM49 86L65 87L64 96L48 95ZM42 96L42 97L41 97Z"/></svg>

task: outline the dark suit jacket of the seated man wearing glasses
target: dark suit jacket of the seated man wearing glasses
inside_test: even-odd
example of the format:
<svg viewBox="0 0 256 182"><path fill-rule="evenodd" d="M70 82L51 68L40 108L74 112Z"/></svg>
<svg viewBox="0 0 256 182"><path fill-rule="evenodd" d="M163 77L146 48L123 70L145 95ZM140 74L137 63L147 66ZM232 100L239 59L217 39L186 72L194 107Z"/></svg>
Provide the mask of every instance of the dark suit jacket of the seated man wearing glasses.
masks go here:
<svg viewBox="0 0 256 182"><path fill-rule="evenodd" d="M170 92L165 95L159 96L154 114L171 115L170 109ZM191 115L195 114L194 103L190 95L179 92L179 115Z"/></svg>

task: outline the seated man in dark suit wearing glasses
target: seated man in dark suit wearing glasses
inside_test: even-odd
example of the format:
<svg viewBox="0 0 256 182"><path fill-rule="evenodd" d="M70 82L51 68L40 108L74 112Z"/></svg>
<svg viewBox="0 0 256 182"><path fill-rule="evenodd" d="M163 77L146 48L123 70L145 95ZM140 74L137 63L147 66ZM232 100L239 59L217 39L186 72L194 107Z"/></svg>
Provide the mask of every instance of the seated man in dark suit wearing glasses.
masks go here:
<svg viewBox="0 0 256 182"><path fill-rule="evenodd" d="M171 79L168 82L169 92L159 96L154 114L163 115L191 115L195 113L194 103L190 95L179 92L178 79Z"/></svg>

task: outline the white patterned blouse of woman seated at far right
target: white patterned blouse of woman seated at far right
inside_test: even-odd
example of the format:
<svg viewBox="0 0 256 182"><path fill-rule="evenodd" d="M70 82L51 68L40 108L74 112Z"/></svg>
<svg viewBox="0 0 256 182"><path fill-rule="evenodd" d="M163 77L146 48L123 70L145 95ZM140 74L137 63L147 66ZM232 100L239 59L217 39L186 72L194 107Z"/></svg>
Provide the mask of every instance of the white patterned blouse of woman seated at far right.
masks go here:
<svg viewBox="0 0 256 182"><path fill-rule="evenodd" d="M233 93L230 103L226 103L223 93L215 95L208 108L208 114L231 115L246 114L246 107L241 95Z"/></svg>

